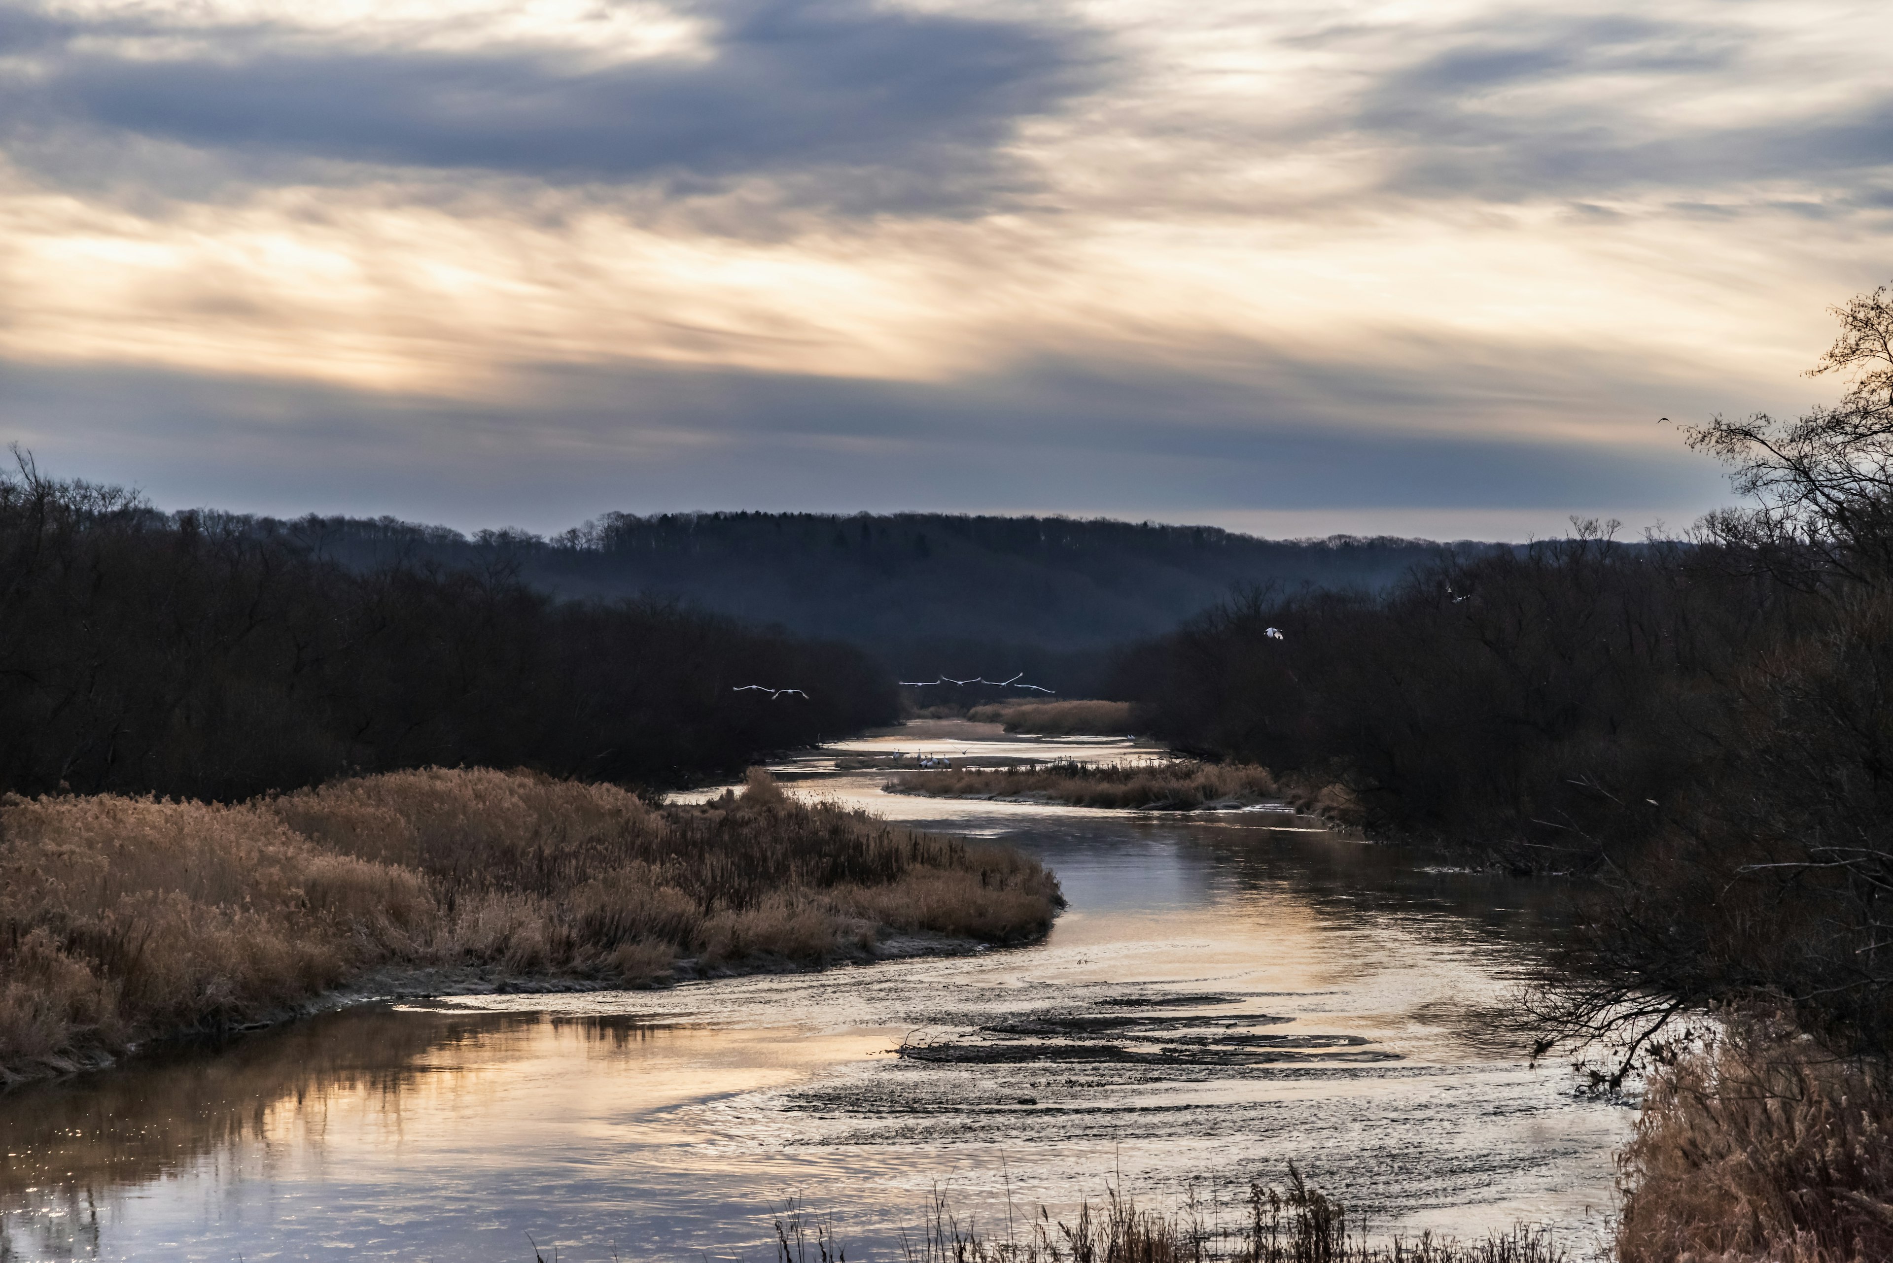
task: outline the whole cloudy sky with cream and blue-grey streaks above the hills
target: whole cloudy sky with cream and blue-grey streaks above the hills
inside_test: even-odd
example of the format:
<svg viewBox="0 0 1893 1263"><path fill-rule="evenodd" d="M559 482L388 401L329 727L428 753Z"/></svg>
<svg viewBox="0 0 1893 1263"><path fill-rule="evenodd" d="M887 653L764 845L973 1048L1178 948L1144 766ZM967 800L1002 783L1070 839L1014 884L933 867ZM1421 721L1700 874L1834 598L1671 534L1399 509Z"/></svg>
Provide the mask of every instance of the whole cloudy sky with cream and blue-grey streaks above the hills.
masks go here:
<svg viewBox="0 0 1893 1263"><path fill-rule="evenodd" d="M168 507L1685 525L1882 4L0 0L0 437Z"/></svg>

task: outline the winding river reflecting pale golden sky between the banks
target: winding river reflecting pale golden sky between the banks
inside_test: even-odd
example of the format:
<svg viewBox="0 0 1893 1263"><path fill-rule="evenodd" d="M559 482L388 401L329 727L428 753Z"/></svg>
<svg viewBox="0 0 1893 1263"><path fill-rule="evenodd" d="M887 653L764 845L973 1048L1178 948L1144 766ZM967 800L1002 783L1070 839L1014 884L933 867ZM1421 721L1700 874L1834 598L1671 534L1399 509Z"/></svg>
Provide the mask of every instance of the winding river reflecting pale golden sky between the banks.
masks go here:
<svg viewBox="0 0 1893 1263"><path fill-rule="evenodd" d="M1548 1223L1581 1255L1607 1236L1628 1112L1530 1068L1495 1021L1556 932L1554 886L1285 812L924 799L835 771L1149 754L982 737L931 725L778 771L1041 856L1070 899L1045 943L367 1005L17 1091L0 1261L761 1261L787 1199L850 1257L901 1257L935 1195L1003 1235L1107 1183L1213 1212L1291 1159L1376 1235Z"/></svg>

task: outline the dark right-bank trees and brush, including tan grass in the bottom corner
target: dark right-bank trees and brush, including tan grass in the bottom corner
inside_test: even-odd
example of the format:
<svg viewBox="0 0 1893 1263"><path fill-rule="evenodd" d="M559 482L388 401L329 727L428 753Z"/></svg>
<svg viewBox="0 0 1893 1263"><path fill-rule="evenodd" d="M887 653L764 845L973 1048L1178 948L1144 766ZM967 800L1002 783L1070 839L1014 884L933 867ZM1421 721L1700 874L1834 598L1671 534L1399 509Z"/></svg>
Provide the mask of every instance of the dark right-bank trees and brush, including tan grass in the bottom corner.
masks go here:
<svg viewBox="0 0 1893 1263"><path fill-rule="evenodd" d="M1581 523L1378 595L1249 589L1123 670L1183 748L1596 879L1531 1024L1611 1043L1605 1087L1653 1055L1626 1259L1893 1254L1893 301L1836 314L1836 407L1685 430L1749 496L1687 542ZM1728 1034L1689 1051L1702 1009Z"/></svg>

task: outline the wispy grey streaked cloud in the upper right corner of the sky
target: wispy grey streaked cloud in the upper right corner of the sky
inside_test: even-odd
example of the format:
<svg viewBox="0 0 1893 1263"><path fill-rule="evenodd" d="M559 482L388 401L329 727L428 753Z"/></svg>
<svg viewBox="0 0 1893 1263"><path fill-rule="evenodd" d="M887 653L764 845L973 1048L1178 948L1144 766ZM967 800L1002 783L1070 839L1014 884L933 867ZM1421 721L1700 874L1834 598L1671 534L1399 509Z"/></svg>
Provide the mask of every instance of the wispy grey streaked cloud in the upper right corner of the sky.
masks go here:
<svg viewBox="0 0 1893 1263"><path fill-rule="evenodd" d="M1382 187L1522 201L1829 182L1893 167L1893 89L1796 100L1760 27L1545 13L1454 32L1376 78L1350 121L1397 146ZM1757 93L1760 95L1760 93ZM1723 108L1715 108L1723 106Z"/></svg>

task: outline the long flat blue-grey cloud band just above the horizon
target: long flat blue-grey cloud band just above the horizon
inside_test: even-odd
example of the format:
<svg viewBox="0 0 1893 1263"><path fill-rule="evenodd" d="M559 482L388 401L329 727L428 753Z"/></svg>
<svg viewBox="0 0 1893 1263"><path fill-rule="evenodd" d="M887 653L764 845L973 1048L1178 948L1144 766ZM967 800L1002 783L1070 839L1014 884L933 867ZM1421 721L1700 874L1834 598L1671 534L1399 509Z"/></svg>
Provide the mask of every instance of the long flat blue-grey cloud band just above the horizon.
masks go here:
<svg viewBox="0 0 1893 1263"><path fill-rule="evenodd" d="M945 384L560 367L485 403L155 371L0 365L0 381L9 437L55 471L134 481L174 507L462 528L702 507L1109 507L1202 521L1321 506L1641 506L1687 519L1723 489L1653 418L1637 418L1649 441L1636 449L1405 434L1348 424L1350 398L1318 382L1206 392L1194 375L1107 360ZM1442 403L1475 407L1477 394Z"/></svg>

